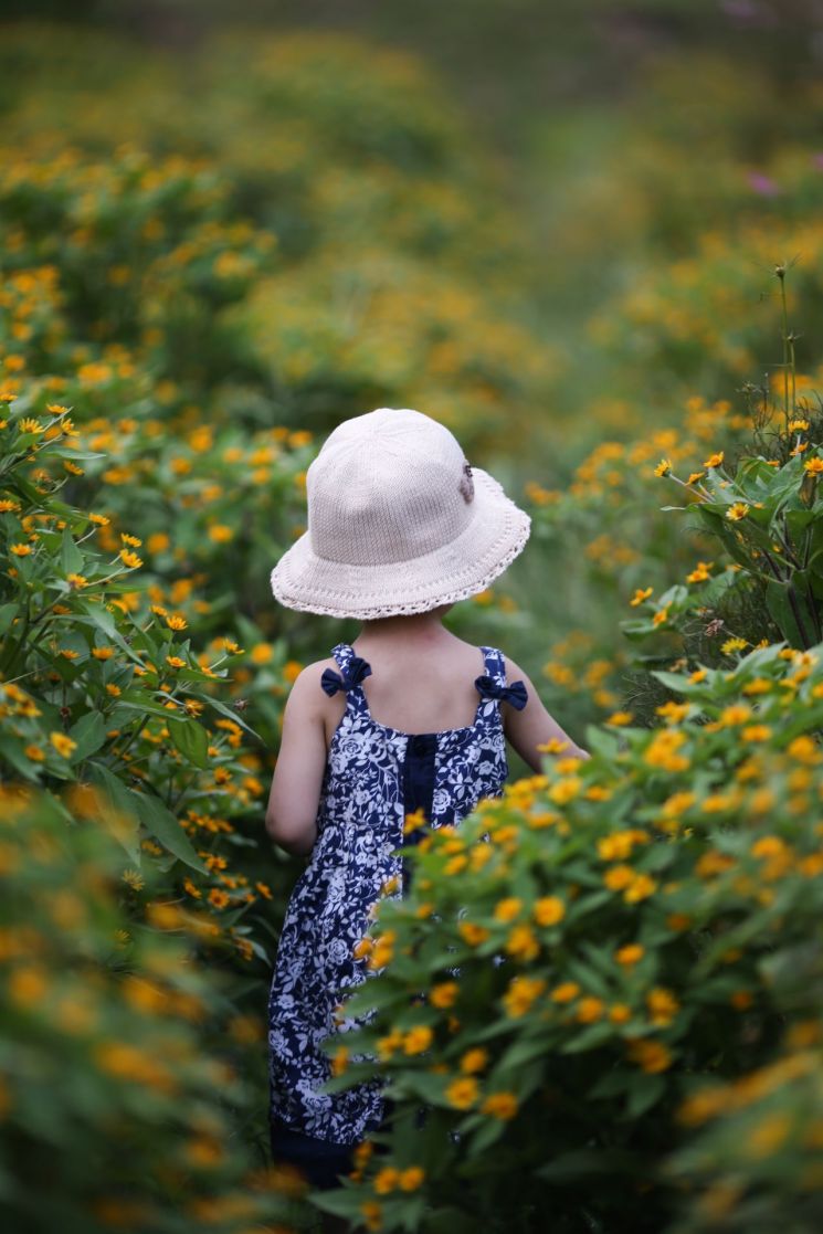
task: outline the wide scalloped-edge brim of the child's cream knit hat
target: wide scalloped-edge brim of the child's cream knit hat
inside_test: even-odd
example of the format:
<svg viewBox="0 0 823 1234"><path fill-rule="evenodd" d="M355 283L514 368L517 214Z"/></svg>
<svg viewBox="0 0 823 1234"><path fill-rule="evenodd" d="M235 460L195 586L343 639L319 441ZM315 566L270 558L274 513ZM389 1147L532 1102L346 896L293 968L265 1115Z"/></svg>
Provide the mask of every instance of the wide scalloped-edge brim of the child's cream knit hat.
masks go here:
<svg viewBox="0 0 823 1234"><path fill-rule="evenodd" d="M370 621L428 612L478 595L523 550L532 520L501 485L473 465L474 517L433 553L391 565L343 565L317 557L305 532L271 570L286 608Z"/></svg>

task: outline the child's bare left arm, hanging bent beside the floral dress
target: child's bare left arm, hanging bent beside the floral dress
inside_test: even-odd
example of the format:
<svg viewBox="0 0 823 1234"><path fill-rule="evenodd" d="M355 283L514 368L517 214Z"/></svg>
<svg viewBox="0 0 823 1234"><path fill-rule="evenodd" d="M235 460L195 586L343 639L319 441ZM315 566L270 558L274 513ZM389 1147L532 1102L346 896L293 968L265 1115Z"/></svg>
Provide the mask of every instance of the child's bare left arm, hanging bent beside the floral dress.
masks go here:
<svg viewBox="0 0 823 1234"><path fill-rule="evenodd" d="M265 811L265 829L271 839L300 856L311 853L317 839L317 806L326 769L321 668L312 664L304 669L291 687Z"/></svg>

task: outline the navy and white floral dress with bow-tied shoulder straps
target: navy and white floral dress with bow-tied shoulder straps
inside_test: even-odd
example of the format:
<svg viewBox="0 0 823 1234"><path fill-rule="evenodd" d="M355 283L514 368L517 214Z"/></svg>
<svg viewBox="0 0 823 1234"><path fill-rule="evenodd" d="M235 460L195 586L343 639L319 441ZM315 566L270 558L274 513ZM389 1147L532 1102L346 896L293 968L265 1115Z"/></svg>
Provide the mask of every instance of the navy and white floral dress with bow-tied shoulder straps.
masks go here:
<svg viewBox="0 0 823 1234"><path fill-rule="evenodd" d="M323 1038L336 1032L334 1008L347 987L369 975L353 948L366 933L383 884L408 871L392 849L406 814L422 807L432 827L458 823L482 797L500 796L508 774L500 703L526 706L522 681L506 685L496 648L480 648L485 673L474 723L439 733L410 734L371 718L363 680L371 668L345 643L332 655L322 687L345 691L345 712L332 738L317 814L317 842L289 901L269 995L269 1112L271 1150L304 1169L353 1146L380 1125L381 1085L325 1093L329 1059ZM341 1028L345 1028L343 1022ZM307 1172L312 1175L312 1170ZM315 1170L315 1181L325 1185ZM332 1185L331 1175L326 1185Z"/></svg>

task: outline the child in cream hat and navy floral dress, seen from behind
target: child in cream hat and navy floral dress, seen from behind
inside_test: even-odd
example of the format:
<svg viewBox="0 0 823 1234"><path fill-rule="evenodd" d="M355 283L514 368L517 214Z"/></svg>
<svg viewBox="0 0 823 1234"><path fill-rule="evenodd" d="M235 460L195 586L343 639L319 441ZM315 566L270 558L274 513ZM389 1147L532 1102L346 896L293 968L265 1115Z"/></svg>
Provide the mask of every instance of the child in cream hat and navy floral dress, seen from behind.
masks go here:
<svg viewBox="0 0 823 1234"><path fill-rule="evenodd" d="M317 1187L352 1169L384 1114L379 1082L325 1095L321 1049L392 849L421 810L458 823L507 775L506 739L540 770L568 742L521 669L449 633L443 615L523 549L529 518L452 433L381 407L339 424L308 469L308 531L271 571L280 603L363 622L355 645L304 669L289 696L267 830L311 859L289 902L269 998L271 1153ZM513 680L512 680L513 679ZM413 833L412 833L413 834ZM411 838L411 837L410 837Z"/></svg>

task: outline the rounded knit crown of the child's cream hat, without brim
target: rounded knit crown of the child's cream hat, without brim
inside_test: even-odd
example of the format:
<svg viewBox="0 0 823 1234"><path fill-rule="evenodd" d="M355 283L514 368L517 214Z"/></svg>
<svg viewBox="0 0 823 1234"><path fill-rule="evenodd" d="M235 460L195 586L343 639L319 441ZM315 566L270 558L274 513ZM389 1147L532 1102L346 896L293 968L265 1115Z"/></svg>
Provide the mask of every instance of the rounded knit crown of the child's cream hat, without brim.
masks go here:
<svg viewBox="0 0 823 1234"><path fill-rule="evenodd" d="M473 517L464 468L455 437L420 411L379 407L344 421L306 474L315 553L380 566L443 548Z"/></svg>

